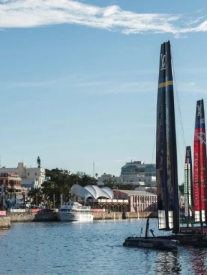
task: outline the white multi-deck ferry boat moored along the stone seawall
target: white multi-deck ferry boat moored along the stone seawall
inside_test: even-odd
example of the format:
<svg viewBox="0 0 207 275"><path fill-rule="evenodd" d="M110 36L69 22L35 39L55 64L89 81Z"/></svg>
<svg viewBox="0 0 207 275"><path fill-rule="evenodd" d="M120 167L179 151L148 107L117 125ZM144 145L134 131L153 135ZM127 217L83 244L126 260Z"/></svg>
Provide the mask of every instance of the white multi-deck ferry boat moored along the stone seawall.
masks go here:
<svg viewBox="0 0 207 275"><path fill-rule="evenodd" d="M93 221L90 206L82 206L78 202L64 202L57 212L59 221Z"/></svg>

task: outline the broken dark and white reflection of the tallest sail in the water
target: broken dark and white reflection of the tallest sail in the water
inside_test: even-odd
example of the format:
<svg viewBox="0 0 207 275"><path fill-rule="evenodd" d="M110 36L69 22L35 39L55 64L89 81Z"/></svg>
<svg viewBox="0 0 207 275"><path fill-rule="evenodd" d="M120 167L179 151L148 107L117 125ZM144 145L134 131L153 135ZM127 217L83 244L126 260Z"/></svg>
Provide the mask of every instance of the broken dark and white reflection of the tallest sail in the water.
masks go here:
<svg viewBox="0 0 207 275"><path fill-rule="evenodd" d="M155 265L155 274L181 274L179 252L158 251Z"/></svg>

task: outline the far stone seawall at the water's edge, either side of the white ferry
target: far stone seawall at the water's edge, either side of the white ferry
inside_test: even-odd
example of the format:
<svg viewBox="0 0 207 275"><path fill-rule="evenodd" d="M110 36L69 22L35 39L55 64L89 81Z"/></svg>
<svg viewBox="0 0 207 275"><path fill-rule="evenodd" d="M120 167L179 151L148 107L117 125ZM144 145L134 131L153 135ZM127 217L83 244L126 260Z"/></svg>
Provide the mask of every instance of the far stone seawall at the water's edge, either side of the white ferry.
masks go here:
<svg viewBox="0 0 207 275"><path fill-rule="evenodd" d="M94 220L157 218L157 212L93 212ZM58 221L56 212L10 212L11 222Z"/></svg>

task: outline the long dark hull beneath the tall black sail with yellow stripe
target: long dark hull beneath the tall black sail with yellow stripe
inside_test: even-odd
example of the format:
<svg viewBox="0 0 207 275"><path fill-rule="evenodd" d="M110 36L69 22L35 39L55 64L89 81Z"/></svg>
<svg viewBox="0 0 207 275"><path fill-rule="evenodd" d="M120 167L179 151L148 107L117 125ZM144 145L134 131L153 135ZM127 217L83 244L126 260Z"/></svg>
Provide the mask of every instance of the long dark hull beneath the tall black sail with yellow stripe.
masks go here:
<svg viewBox="0 0 207 275"><path fill-rule="evenodd" d="M128 237L125 239L124 246L137 248L151 248L155 250L177 250L177 242L158 238Z"/></svg>

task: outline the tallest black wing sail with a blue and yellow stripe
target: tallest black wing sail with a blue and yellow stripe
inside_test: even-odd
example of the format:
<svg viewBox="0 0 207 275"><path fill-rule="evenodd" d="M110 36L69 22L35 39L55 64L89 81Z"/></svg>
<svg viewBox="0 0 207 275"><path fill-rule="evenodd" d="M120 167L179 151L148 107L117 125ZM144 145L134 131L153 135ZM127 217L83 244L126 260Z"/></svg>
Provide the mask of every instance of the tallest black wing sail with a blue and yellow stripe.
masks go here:
<svg viewBox="0 0 207 275"><path fill-rule="evenodd" d="M157 209L159 230L179 232L175 107L170 41L161 45L157 91Z"/></svg>

